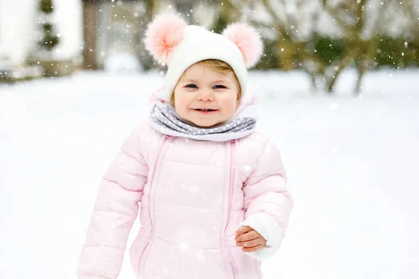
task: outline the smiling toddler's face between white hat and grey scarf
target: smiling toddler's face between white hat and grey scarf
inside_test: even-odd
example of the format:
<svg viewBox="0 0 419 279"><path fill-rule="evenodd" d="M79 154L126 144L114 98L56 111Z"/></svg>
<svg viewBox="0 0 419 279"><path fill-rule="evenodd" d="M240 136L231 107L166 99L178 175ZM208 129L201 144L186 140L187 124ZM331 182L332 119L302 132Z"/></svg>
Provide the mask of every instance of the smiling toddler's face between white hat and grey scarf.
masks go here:
<svg viewBox="0 0 419 279"><path fill-rule="evenodd" d="M203 63L186 69L174 90L175 110L182 119L210 128L235 113L240 84L233 71L219 73Z"/></svg>

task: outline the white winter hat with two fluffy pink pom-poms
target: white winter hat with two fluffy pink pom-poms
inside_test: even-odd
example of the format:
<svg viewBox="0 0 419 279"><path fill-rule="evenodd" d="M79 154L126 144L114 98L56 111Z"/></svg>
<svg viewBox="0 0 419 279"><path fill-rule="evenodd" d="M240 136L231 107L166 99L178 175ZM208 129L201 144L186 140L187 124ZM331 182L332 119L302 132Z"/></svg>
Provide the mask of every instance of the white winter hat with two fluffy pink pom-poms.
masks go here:
<svg viewBox="0 0 419 279"><path fill-rule="evenodd" d="M223 34L203 27L188 25L172 13L156 17L147 28L145 47L159 63L167 63L164 100L170 100L173 89L184 71L205 59L219 59L233 68L242 89L247 91L247 68L259 61L263 43L256 29L236 22L228 25Z"/></svg>

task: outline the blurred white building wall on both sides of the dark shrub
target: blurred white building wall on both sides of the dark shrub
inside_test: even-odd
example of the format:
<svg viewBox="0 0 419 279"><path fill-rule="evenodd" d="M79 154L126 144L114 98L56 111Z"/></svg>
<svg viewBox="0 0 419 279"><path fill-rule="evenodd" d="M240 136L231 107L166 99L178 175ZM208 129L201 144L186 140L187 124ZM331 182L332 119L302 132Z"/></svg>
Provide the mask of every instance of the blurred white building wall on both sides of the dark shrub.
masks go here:
<svg viewBox="0 0 419 279"><path fill-rule="evenodd" d="M53 0L55 30L60 34L56 59L80 56L83 42L81 0ZM38 41L38 0L0 0L0 63L21 65ZM4 59L4 58L3 58Z"/></svg>

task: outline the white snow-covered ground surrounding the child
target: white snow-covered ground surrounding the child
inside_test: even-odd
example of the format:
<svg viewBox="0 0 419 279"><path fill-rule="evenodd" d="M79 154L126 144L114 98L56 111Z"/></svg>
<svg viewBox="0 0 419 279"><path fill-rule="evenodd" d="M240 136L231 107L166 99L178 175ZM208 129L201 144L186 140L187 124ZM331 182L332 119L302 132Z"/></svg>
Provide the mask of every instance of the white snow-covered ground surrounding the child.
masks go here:
<svg viewBox="0 0 419 279"><path fill-rule="evenodd" d="M251 73L259 127L295 197L265 279L419 278L419 71L369 73L362 98L353 78L330 97L309 94L302 73ZM78 73L0 85L1 279L76 278L101 176L162 81ZM134 278L127 257L120 278Z"/></svg>

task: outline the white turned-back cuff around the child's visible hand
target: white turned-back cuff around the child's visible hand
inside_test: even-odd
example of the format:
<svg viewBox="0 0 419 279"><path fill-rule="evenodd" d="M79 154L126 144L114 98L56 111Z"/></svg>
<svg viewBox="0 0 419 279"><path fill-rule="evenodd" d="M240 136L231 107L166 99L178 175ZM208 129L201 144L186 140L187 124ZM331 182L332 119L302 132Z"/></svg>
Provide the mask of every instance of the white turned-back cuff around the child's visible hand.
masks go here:
<svg viewBox="0 0 419 279"><path fill-rule="evenodd" d="M253 259L262 261L272 257L279 250L282 243L281 227L279 227L277 221L269 214L264 212L254 213L247 217L240 225L251 227L266 239L264 248L254 252L245 252L250 257L253 257Z"/></svg>

